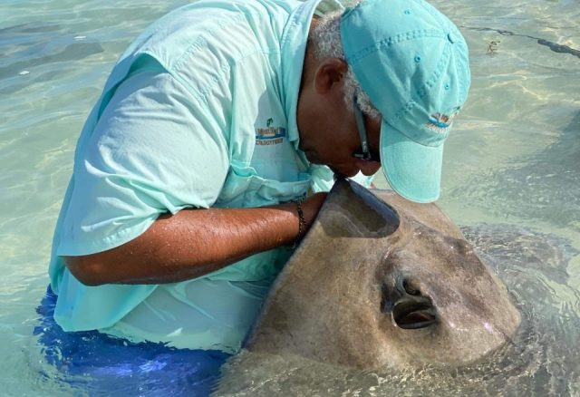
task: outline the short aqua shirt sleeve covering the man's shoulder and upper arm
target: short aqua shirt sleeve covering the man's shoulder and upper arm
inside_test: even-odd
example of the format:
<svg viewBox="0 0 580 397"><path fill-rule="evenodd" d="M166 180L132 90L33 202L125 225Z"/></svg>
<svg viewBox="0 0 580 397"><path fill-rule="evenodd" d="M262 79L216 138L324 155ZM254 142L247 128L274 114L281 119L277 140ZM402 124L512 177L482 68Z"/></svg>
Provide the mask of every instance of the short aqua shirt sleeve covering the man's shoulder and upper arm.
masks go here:
<svg viewBox="0 0 580 397"><path fill-rule="evenodd" d="M161 213L211 207L229 160L224 117L210 116L169 73L122 82L77 148L57 255L118 247Z"/></svg>

